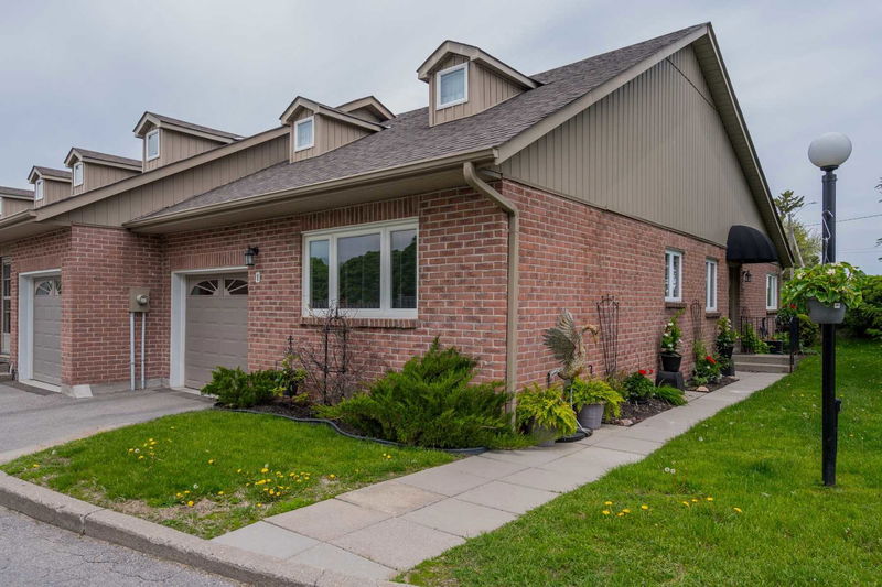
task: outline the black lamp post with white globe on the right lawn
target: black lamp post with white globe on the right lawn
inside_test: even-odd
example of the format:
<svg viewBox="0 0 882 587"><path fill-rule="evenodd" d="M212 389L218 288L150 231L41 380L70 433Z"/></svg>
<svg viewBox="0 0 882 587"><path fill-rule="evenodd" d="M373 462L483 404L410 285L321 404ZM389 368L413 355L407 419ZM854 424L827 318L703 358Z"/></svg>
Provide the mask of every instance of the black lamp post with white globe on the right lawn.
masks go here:
<svg viewBox="0 0 882 587"><path fill-rule="evenodd" d="M836 174L833 171L851 154L845 134L821 134L808 146L808 159L824 171L821 221L821 263L836 262ZM821 474L824 485L836 485L836 450L840 400L836 399L836 325L821 324Z"/></svg>

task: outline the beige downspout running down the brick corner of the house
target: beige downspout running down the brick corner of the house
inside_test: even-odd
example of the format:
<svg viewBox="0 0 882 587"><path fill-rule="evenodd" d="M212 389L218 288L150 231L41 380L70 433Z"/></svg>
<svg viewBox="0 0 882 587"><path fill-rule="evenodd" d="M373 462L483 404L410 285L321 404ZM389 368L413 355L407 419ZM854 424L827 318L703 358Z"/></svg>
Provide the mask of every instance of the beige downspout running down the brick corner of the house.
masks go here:
<svg viewBox="0 0 882 587"><path fill-rule="evenodd" d="M506 306L505 335L505 391L515 393L517 389L517 311L518 311L518 209L514 202L494 189L488 183L477 176L475 166L471 161L462 164L462 174L465 183L477 193L486 196L508 215L508 286ZM514 402L512 404L514 410Z"/></svg>

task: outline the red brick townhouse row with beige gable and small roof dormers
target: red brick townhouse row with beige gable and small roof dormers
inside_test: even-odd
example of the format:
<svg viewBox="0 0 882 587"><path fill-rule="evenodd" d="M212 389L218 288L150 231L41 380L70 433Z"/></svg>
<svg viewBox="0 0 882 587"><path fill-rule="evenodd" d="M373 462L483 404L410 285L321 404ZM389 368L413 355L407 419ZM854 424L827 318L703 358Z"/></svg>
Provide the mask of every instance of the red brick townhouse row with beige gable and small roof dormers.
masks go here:
<svg viewBox="0 0 882 587"><path fill-rule="evenodd" d="M536 75L445 41L417 73L409 112L298 97L251 137L146 112L140 160L73 148L0 188L19 379L128 389L133 354L149 387L200 388L338 306L367 376L440 337L515 389L555 367L559 311L596 323L603 295L623 369L655 367L687 308L688 370L693 301L708 340L775 312L790 253L710 24Z"/></svg>

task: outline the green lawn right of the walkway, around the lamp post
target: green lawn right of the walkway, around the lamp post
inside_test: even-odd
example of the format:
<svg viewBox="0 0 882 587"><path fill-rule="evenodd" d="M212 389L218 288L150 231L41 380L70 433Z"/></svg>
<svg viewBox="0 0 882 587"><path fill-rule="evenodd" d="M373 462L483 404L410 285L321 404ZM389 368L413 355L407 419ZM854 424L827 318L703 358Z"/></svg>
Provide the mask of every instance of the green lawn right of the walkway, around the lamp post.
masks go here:
<svg viewBox="0 0 882 587"><path fill-rule="evenodd" d="M445 587L882 584L882 346L842 340L838 358L838 487L820 483L820 361L810 357L646 460L407 578Z"/></svg>

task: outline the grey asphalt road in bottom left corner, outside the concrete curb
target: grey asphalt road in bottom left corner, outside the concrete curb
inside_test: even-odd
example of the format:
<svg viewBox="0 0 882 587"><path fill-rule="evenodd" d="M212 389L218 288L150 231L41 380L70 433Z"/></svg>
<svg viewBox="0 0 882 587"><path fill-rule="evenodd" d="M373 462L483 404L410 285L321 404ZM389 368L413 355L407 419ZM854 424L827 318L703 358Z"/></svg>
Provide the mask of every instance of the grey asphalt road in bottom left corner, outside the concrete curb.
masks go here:
<svg viewBox="0 0 882 587"><path fill-rule="evenodd" d="M0 508L0 585L239 585Z"/></svg>

